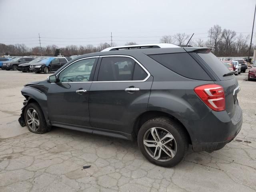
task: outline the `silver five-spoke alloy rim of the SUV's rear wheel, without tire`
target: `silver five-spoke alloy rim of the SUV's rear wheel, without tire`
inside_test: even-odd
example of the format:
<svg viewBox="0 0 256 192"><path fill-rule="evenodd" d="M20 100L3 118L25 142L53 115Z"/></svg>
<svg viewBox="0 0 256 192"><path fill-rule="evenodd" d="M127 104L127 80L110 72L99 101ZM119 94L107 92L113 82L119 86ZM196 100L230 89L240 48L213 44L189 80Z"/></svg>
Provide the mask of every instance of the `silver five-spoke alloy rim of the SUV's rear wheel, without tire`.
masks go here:
<svg viewBox="0 0 256 192"><path fill-rule="evenodd" d="M143 144L152 158L162 162L171 160L177 152L174 136L160 127L150 128L144 134Z"/></svg>

